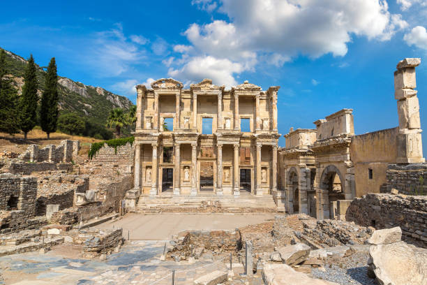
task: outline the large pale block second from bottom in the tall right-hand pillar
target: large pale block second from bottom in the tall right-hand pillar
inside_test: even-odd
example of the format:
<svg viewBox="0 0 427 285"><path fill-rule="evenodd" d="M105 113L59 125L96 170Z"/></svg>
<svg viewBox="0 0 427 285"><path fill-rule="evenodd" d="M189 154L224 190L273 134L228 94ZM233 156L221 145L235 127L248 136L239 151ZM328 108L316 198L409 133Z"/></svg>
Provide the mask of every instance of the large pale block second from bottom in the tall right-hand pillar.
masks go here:
<svg viewBox="0 0 427 285"><path fill-rule="evenodd" d="M398 101L400 129L420 129L419 102L417 96Z"/></svg>

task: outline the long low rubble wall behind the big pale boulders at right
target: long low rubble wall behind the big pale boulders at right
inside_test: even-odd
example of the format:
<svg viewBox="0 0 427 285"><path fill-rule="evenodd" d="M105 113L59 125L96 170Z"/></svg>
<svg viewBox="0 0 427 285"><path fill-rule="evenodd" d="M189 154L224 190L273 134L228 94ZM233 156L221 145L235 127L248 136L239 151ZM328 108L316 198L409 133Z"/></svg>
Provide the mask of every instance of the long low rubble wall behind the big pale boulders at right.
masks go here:
<svg viewBox="0 0 427 285"><path fill-rule="evenodd" d="M352 201L345 219L376 229L400 226L405 242L427 248L427 196L368 193Z"/></svg>

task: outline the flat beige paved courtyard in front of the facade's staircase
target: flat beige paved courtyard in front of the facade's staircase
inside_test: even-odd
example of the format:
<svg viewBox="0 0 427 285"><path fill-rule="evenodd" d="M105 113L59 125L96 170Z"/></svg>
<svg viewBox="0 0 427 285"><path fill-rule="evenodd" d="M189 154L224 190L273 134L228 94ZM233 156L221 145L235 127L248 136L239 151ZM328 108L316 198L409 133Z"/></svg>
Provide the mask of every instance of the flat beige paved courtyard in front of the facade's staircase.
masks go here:
<svg viewBox="0 0 427 285"><path fill-rule="evenodd" d="M123 228L130 240L170 240L186 230L234 230L249 224L274 219L274 214L126 214L117 221L107 221L96 228Z"/></svg>

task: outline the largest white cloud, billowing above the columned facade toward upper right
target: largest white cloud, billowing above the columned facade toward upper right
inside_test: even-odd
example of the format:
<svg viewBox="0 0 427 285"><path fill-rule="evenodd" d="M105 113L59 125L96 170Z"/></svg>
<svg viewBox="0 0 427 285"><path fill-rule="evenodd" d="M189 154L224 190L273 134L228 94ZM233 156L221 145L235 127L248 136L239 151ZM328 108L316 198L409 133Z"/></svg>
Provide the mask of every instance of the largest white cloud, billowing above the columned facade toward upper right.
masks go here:
<svg viewBox="0 0 427 285"><path fill-rule="evenodd" d="M293 57L324 54L344 56L353 36L388 41L407 22L391 14L385 0L193 0L200 9L221 3L218 11L230 20L191 24L184 32L190 45L176 45L174 52L185 59L171 71L187 81L215 73L227 84L234 74L255 71L259 62L281 66ZM209 71L201 62L223 62L225 71ZM262 59L262 61L260 60ZM197 63L197 64L196 64ZM190 72L190 66L205 75ZM230 68L239 66L239 68ZM193 68L194 69L194 68ZM192 70L193 70L192 69ZM221 84L221 82L217 82Z"/></svg>

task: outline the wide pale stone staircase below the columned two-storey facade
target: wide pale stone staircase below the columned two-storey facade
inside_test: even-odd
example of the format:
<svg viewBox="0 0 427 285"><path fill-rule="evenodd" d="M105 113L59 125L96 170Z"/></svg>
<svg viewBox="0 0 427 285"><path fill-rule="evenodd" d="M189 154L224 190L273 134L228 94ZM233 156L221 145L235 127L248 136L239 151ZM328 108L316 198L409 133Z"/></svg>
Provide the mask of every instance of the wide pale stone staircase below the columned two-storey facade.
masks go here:
<svg viewBox="0 0 427 285"><path fill-rule="evenodd" d="M162 193L155 197L140 196L136 212L156 214L161 212L181 213L270 213L277 212L273 196L253 196L241 192L240 196L215 196L212 193L198 193L197 196L173 196Z"/></svg>

